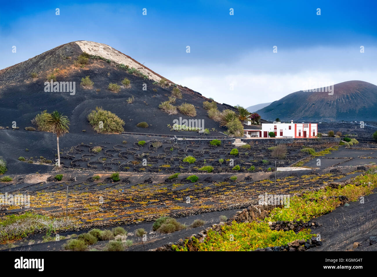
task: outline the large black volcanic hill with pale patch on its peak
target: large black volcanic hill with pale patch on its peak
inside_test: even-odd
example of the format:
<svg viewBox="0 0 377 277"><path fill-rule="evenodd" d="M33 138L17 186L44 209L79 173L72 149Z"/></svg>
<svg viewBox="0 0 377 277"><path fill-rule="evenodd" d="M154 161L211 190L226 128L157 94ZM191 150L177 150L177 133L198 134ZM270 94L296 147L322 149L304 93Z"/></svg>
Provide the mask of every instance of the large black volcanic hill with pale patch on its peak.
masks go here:
<svg viewBox="0 0 377 277"><path fill-rule="evenodd" d="M101 56L104 60L89 58L89 63L83 67L77 63L75 65L75 60L83 51L90 55ZM128 73L127 70L119 67L120 63L129 65L130 68L135 67L148 78ZM57 72L58 82L76 82L75 95L70 95L69 92L44 91L47 75L54 70ZM37 78L31 77L33 72L38 74ZM93 89L84 89L80 86L81 78L88 75L94 82ZM113 93L107 89L109 83L121 85L121 80L124 78L130 80L130 88L122 88L119 93ZM173 119L179 119L179 117L204 119L205 128L226 130L220 128L218 122L208 118L207 111L202 107L202 102L208 99L187 87L178 85L183 97L177 99L175 105L178 106L184 102L193 104L197 112L195 117L185 116L180 112L176 115L168 115L159 109L158 105L168 100L174 85L172 81L164 78L170 86L159 86L156 82L161 78L162 76L106 44L90 41L67 43L0 70L0 126L9 126L11 129L12 121L16 121L17 126L24 129L32 126L31 119L41 111L58 110L70 119L70 133L81 133L82 130L94 133L86 117L98 106L123 119L126 122L125 132L197 135L195 132L170 132L167 124L173 125ZM144 84L147 90L143 90ZM126 100L131 96L134 96L135 101L128 104ZM233 107L218 104L218 108L223 110ZM142 121L146 121L151 126L149 128L136 127L136 124ZM219 133L216 132L216 135Z"/></svg>

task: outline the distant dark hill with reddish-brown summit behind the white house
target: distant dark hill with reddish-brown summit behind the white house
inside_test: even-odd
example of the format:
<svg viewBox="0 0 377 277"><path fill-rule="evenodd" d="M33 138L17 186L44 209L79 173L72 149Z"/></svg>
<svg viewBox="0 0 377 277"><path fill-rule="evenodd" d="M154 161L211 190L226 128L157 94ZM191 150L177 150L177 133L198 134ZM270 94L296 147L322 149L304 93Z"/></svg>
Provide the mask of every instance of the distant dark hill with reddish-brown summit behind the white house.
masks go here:
<svg viewBox="0 0 377 277"><path fill-rule="evenodd" d="M294 92L257 113L262 118L284 121L377 120L377 86L374 84L347 81L335 84L333 91L333 95L328 92Z"/></svg>

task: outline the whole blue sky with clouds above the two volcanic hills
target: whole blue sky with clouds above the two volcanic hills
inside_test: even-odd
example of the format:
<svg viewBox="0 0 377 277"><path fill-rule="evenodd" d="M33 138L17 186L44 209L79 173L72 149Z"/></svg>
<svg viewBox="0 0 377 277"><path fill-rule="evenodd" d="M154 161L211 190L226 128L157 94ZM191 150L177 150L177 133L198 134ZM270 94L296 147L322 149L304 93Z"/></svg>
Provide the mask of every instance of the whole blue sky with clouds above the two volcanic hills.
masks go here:
<svg viewBox="0 0 377 277"><path fill-rule="evenodd" d="M377 2L328 2L2 2L0 69L89 40L216 101L246 107L308 89L306 84L377 84Z"/></svg>

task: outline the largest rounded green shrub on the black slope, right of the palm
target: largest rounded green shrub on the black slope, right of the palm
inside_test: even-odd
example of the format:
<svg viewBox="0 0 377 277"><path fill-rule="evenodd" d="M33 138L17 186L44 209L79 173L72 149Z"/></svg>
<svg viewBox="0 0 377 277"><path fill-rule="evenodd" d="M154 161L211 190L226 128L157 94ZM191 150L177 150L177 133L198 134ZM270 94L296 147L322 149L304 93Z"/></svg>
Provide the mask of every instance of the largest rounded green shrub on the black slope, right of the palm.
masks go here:
<svg viewBox="0 0 377 277"><path fill-rule="evenodd" d="M97 133L121 133L124 131L124 121L114 113L102 109L102 107L96 107L95 110L92 110L87 119ZM102 128L100 128L100 122L103 123Z"/></svg>

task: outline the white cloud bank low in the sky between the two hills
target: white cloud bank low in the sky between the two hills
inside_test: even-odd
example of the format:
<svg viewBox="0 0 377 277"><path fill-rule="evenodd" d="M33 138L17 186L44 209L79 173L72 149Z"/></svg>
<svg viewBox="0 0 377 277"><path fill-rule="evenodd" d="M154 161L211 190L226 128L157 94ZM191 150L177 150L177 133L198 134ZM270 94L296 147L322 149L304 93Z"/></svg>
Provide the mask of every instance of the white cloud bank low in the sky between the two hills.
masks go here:
<svg viewBox="0 0 377 277"><path fill-rule="evenodd" d="M252 52L233 63L155 64L160 75L220 103L244 107L276 101L309 83L361 80L377 84L377 49L317 47L277 54ZM369 54L368 52L369 51ZM281 53L282 52L282 53ZM281 53L281 54L280 54ZM275 56L274 56L275 55ZM230 90L233 84L234 90Z"/></svg>

